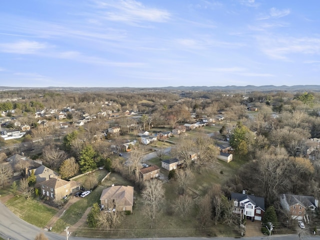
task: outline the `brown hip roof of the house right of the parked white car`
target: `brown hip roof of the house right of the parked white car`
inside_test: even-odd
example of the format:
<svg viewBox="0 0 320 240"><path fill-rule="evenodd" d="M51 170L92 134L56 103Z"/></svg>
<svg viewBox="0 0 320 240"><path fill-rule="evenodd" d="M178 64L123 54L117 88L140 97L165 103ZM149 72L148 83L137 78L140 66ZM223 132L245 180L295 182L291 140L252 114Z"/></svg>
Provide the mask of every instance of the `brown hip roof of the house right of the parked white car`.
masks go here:
<svg viewBox="0 0 320 240"><path fill-rule="evenodd" d="M133 186L110 186L102 190L100 200L117 199L123 206L133 205Z"/></svg>

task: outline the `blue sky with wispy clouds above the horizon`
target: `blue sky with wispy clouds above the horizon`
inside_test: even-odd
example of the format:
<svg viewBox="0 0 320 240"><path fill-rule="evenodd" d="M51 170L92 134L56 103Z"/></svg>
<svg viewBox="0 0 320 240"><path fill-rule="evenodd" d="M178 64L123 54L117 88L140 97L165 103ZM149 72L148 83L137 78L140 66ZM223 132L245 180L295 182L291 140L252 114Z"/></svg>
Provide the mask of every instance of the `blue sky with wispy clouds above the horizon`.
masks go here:
<svg viewBox="0 0 320 240"><path fill-rule="evenodd" d="M319 0L7 0L0 85L319 84Z"/></svg>

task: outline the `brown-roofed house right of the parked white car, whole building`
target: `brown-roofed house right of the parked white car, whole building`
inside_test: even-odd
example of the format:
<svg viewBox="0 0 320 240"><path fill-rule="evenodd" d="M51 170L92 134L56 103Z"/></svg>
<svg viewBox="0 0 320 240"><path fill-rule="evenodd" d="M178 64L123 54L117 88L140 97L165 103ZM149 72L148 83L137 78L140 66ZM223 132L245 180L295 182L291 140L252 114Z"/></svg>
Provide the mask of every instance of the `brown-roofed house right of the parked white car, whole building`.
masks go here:
<svg viewBox="0 0 320 240"><path fill-rule="evenodd" d="M113 204L123 211L132 211L133 186L112 186L102 190L100 204ZM114 208L115 208L114 207Z"/></svg>

